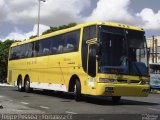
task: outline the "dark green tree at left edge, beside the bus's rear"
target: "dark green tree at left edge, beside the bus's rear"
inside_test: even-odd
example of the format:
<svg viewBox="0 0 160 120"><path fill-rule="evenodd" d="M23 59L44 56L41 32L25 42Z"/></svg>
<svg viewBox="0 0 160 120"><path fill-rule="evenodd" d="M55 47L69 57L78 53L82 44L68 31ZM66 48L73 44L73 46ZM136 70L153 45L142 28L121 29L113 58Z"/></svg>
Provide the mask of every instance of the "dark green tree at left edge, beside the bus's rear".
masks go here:
<svg viewBox="0 0 160 120"><path fill-rule="evenodd" d="M0 81L6 80L9 48L13 40L0 41Z"/></svg>

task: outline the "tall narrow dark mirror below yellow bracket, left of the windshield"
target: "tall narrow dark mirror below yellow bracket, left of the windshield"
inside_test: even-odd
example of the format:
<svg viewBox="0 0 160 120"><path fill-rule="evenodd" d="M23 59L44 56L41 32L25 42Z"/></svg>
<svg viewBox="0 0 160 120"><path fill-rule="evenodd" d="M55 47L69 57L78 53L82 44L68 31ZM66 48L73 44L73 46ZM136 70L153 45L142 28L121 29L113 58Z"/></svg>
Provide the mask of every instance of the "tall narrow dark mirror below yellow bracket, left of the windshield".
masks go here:
<svg viewBox="0 0 160 120"><path fill-rule="evenodd" d="M96 49L93 48L94 45L90 46L89 58L88 58L88 74L91 77L96 76Z"/></svg>

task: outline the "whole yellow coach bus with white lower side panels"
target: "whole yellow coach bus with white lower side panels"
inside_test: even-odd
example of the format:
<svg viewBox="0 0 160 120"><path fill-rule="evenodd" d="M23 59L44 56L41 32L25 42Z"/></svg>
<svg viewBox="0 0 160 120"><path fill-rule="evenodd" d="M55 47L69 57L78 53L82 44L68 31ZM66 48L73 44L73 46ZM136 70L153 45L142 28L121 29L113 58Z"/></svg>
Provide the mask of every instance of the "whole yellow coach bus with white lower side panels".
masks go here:
<svg viewBox="0 0 160 120"><path fill-rule="evenodd" d="M113 22L90 22L14 43L8 83L82 95L145 97L149 93L143 29Z"/></svg>

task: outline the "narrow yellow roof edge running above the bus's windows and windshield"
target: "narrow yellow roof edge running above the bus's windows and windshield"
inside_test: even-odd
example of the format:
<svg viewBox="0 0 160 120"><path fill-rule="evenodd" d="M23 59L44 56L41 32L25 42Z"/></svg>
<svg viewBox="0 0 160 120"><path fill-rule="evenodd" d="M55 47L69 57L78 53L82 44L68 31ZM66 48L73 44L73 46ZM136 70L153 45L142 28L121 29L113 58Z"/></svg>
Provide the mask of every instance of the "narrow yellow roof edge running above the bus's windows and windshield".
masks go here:
<svg viewBox="0 0 160 120"><path fill-rule="evenodd" d="M28 43L28 42L41 40L41 39L48 38L48 37L52 37L54 35L62 34L62 33L65 33L65 32L70 32L72 30L76 30L76 29L91 26L91 25L106 25L106 26L114 26L114 27L119 27L119 28L132 29L132 30L137 30L137 31L144 31L142 28L139 28L139 27L136 27L136 26L126 25L126 24L121 24L121 23L116 23L116 22L88 22L88 23L76 25L76 26L71 27L71 28L58 30L58 31L55 31L55 32L52 32L52 33L41 35L41 36L35 37L33 39L24 40L22 42L15 42L11 45L11 47L21 45L21 44L24 44L24 43Z"/></svg>

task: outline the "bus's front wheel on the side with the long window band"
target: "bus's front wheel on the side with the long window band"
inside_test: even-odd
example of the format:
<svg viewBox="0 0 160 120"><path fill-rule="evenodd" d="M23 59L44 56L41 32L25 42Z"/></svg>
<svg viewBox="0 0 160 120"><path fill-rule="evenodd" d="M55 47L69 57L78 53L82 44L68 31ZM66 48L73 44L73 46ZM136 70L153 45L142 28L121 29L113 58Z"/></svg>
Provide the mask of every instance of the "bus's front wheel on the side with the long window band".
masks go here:
<svg viewBox="0 0 160 120"><path fill-rule="evenodd" d="M79 80L76 80L76 83L74 85L74 97L76 101L82 100L81 84Z"/></svg>

